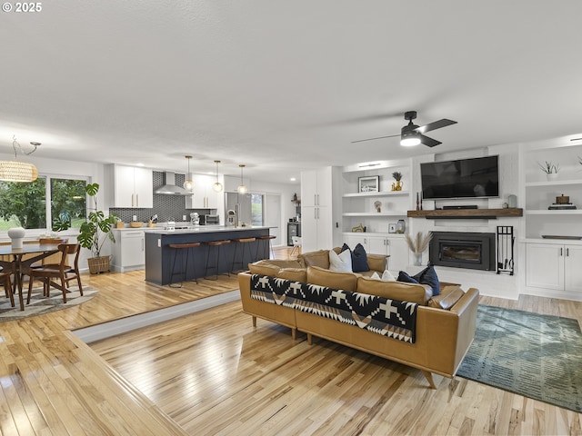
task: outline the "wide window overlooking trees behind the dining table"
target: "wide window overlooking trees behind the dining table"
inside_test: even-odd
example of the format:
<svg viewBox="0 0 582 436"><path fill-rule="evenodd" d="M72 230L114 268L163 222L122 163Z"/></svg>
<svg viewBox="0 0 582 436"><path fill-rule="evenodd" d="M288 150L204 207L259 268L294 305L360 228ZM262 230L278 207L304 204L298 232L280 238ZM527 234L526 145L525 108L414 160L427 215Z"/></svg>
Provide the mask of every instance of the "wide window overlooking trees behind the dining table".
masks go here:
<svg viewBox="0 0 582 436"><path fill-rule="evenodd" d="M78 228L86 215L85 184L85 180L49 176L32 183L0 182L0 230L52 229L57 221Z"/></svg>

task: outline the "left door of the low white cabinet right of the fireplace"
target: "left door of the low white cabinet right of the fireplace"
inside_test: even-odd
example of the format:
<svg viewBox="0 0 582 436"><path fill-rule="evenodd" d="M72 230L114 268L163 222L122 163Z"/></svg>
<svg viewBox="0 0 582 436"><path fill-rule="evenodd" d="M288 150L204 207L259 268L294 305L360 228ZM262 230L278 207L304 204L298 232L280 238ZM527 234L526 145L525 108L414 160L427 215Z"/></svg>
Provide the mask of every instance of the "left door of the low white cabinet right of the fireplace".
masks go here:
<svg viewBox="0 0 582 436"><path fill-rule="evenodd" d="M550 243L526 244L526 285L564 290L564 246Z"/></svg>

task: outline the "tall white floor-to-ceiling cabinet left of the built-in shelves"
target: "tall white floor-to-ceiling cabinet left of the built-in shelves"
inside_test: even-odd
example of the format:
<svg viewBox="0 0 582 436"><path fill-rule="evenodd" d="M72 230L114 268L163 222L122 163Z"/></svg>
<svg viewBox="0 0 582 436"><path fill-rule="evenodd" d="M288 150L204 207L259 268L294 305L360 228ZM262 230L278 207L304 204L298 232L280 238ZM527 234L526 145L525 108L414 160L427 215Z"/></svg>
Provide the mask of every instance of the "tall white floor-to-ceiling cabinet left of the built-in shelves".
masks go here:
<svg viewBox="0 0 582 436"><path fill-rule="evenodd" d="M301 241L303 253L333 248L334 209L331 166L301 173ZM306 201L305 201L306 199Z"/></svg>

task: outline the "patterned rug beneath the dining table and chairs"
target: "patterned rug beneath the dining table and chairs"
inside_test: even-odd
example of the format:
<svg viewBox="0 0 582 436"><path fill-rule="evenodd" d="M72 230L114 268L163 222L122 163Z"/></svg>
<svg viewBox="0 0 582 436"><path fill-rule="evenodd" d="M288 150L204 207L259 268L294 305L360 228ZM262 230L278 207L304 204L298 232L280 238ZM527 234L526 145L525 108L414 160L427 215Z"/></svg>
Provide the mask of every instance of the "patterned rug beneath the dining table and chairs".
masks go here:
<svg viewBox="0 0 582 436"><path fill-rule="evenodd" d="M2 304L0 304L0 322L3 322L21 320L28 316L41 315L76 306L77 304L91 300L98 291L92 286L83 286L83 295L81 295L77 286L71 286L71 292L66 294L66 304L64 304L63 294L60 291L52 288L50 298L45 298L43 296L43 288L38 287L33 288L30 304L26 304L26 292L28 292L26 289L23 290L25 298L24 312L20 310L17 295L15 295L16 307L11 307L10 300L4 297L4 289L0 290L0 292L2 292L4 298Z"/></svg>

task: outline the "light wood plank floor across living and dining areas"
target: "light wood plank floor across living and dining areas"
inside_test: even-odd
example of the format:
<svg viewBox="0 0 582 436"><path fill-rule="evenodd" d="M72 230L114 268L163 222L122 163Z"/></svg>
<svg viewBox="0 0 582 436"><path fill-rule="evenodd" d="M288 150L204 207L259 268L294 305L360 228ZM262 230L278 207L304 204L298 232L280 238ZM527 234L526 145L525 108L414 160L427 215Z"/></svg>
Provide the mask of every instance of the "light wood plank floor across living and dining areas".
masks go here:
<svg viewBox="0 0 582 436"><path fill-rule="evenodd" d="M286 251L279 252L283 257ZM85 275L90 302L0 323L0 431L29 434L582 434L580 414L422 373L258 320L232 302L86 345L72 329L236 289L236 278ZM582 303L483 303L582 320Z"/></svg>

